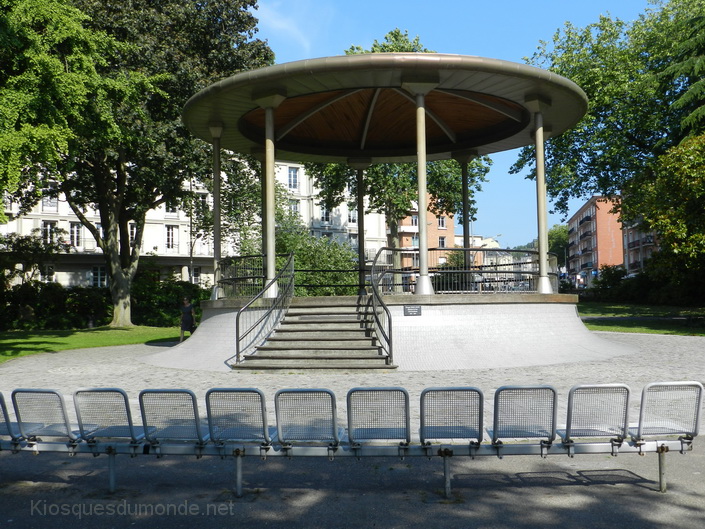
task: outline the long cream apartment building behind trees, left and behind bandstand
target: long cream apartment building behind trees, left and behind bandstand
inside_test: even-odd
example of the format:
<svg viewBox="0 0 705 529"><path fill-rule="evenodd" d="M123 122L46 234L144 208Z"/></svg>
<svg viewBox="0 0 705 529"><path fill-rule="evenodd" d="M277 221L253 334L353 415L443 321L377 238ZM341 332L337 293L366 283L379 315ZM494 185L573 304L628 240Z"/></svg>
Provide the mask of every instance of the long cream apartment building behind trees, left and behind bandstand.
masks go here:
<svg viewBox="0 0 705 529"><path fill-rule="evenodd" d="M317 199L318 189L305 173L301 164L280 162L276 170L277 180L291 193L289 207L299 213L311 232L319 237L333 237L350 242L357 247L361 234L358 230L358 213L346 203L333 211L327 211ZM208 191L195 183L191 185L198 199L206 205L212 204ZM352 199L351 199L352 200ZM30 235L40 230L47 239L61 230L63 238L70 244L68 254L57 256L42 270L43 281L58 282L65 286L106 286L107 271L102 251L93 235L73 214L65 200L44 198L32 211L20 215L17 204L5 201L8 218L0 224L0 233ZM89 211L87 218L100 229L100 217ZM365 217L365 249L368 260L377 250L387 244L384 215L370 214ZM135 236L134 224L130 226L130 237ZM227 241L222 241L223 256L236 255ZM161 206L149 211L142 240L141 255L150 259L160 271L162 279L172 277L191 281L208 287L213 284L213 242L192 229L188 211Z"/></svg>

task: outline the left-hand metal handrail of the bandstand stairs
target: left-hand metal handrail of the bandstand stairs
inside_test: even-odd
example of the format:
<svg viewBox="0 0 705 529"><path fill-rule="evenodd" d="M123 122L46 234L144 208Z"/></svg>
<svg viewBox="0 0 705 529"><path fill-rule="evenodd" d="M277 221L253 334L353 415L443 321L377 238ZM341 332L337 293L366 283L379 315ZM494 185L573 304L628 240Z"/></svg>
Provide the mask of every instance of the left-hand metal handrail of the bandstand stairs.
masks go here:
<svg viewBox="0 0 705 529"><path fill-rule="evenodd" d="M276 295L272 293L276 291ZM277 328L294 294L294 255L289 255L277 275L237 312L235 317L235 355L225 363L232 366L262 345Z"/></svg>

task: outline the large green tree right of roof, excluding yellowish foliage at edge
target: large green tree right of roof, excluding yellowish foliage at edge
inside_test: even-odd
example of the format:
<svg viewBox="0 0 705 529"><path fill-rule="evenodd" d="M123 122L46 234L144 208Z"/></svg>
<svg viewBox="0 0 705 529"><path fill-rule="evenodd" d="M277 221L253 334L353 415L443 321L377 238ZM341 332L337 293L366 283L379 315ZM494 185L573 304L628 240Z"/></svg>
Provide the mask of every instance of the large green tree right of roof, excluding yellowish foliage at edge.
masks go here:
<svg viewBox="0 0 705 529"><path fill-rule="evenodd" d="M692 108L674 102L694 78L664 84L664 72L705 0L653 3L633 23L606 16L582 29L566 23L527 59L572 79L589 99L583 120L546 145L549 194L564 213L571 197L618 193L686 136L683 120ZM528 167L533 175L533 151L523 149L512 172Z"/></svg>

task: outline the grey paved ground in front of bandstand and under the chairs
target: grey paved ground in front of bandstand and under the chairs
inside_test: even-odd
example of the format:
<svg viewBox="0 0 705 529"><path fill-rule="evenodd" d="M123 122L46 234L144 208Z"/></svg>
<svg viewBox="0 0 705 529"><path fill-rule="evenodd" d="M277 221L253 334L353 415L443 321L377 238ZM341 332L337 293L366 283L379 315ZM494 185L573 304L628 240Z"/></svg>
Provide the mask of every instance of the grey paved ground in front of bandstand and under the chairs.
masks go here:
<svg viewBox="0 0 705 529"><path fill-rule="evenodd" d="M409 390L412 424L430 386L473 385L491 397L504 384L553 384L565 407L578 383L625 382L636 395L657 380L705 381L705 338L600 333L632 354L601 361L428 371L210 372L144 363L157 346L109 347L20 358L0 366L0 391L117 386L136 401L143 388L188 388L202 399L211 387L326 387L344 396L354 386ZM559 417L565 417L563 411ZM491 419L488 410L486 423ZM561 419L559 419L560 421ZM118 486L107 493L107 458L0 453L0 528L52 527L438 527L613 528L705 526L705 450L668 455L669 492L656 492L656 456L485 458L452 462L454 497L442 496L439 460L246 460L246 496L231 489L233 463L216 458L118 458Z"/></svg>

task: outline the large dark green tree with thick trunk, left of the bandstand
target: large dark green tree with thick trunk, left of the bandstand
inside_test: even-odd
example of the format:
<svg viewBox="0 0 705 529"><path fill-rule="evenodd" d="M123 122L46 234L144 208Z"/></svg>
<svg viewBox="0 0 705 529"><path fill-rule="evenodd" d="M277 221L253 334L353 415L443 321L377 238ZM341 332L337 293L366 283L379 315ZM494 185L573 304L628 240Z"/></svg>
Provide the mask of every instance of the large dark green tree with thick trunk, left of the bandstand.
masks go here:
<svg viewBox="0 0 705 529"><path fill-rule="evenodd" d="M70 134L62 137L63 143L54 142L58 155L51 158L41 152L35 158L20 157L19 163L9 166L31 183L21 190L25 207L42 192L66 197L105 256L114 305L112 325L130 325L130 290L147 211L180 204L188 196L186 182L208 183L210 178L209 149L181 124L183 104L220 77L271 63L272 53L265 43L253 39L256 19L250 9L256 7L255 0L205 4L135 0L124 5L75 0L73 4L90 19L60 1L47 4L51 9L38 0L9 2L22 7L24 16L3 22L13 31L8 39L15 46L11 56L24 53L26 57L9 76L18 87L18 97L43 90L41 83L49 84L44 94L52 104L62 101L63 91L83 97L83 106L71 107L73 114L60 114L71 119L65 120L62 129ZM41 13L44 18L39 19ZM40 27L37 20L42 21ZM40 38L54 27L56 42ZM76 46L66 38L72 34L69 29L87 35L79 41L79 51L87 52L73 62ZM16 37L27 31L36 36ZM46 48L54 65L51 69L33 60L35 41ZM74 62L82 74L78 80L71 79L75 87L64 82L64 69L73 71ZM28 88L21 76L35 70L39 70L36 86ZM17 117L14 128L23 130L26 121ZM229 168L232 165L223 167ZM229 181L237 181L236 171ZM99 213L100 226L90 222L92 211ZM130 225L135 228L134 239Z"/></svg>

